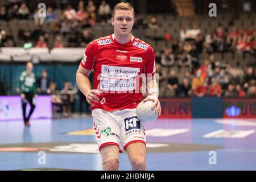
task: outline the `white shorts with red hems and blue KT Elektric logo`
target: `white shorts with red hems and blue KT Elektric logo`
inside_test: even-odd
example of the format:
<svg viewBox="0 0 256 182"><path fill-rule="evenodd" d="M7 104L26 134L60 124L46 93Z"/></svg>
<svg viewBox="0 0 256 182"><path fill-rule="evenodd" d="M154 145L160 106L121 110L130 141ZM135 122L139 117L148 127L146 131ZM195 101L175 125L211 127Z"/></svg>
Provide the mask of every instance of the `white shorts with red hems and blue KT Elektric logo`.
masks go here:
<svg viewBox="0 0 256 182"><path fill-rule="evenodd" d="M126 151L129 144L142 142L146 145L143 123L136 116L136 109L106 111L93 109L93 129L98 147L114 144Z"/></svg>

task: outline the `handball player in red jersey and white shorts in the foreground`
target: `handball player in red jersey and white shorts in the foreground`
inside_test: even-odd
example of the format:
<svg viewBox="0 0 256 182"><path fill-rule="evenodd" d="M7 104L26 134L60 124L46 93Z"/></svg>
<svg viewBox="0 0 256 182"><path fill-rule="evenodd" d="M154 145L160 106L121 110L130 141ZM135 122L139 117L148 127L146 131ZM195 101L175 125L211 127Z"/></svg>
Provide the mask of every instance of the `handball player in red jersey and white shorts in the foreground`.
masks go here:
<svg viewBox="0 0 256 182"><path fill-rule="evenodd" d="M130 3L115 5L112 14L114 34L90 43L77 70L77 85L92 105L104 170L118 169L120 147L127 152L133 170L146 170L146 134L135 113L142 99L142 93L136 92L141 81L136 84L135 77L146 74L148 96L143 101L153 101L159 115L161 110L154 78L154 51L130 34L134 16ZM93 68L94 89L91 89L88 76ZM127 86L130 84L133 86Z"/></svg>

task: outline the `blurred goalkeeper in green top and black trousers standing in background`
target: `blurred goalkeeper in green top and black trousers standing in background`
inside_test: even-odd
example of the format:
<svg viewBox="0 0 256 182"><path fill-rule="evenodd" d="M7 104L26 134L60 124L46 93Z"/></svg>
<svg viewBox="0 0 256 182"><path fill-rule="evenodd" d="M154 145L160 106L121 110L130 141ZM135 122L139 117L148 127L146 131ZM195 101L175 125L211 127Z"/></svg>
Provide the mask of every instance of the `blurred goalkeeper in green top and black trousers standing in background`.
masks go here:
<svg viewBox="0 0 256 182"><path fill-rule="evenodd" d="M19 77L20 96L22 97L22 110L25 126L30 126L30 117L35 109L36 98L36 80L35 75L32 73L33 64L27 63L26 71L23 71ZM30 103L31 109L28 117L26 117L27 102Z"/></svg>

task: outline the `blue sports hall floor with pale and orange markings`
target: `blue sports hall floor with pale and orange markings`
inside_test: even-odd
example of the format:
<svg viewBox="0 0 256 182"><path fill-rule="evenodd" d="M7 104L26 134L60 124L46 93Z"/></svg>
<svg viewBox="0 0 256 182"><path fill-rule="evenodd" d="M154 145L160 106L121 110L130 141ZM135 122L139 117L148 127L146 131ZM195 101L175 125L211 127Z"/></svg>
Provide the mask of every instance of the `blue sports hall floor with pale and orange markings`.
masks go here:
<svg viewBox="0 0 256 182"><path fill-rule="evenodd" d="M0 170L102 170L92 127L90 117L0 122ZM256 119L158 119L145 128L148 170L256 170ZM131 170L125 153L119 169Z"/></svg>

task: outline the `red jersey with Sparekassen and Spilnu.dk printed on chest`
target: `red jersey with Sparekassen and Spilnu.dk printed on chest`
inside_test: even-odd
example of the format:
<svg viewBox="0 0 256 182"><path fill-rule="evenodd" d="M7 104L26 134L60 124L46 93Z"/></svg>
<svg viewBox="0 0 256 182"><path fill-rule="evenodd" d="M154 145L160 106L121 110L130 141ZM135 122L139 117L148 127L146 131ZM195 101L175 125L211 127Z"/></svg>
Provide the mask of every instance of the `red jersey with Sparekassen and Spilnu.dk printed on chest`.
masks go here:
<svg viewBox="0 0 256 182"><path fill-rule="evenodd" d="M80 64L94 69L93 89L101 91L92 110L134 109L142 99L141 74L154 76L155 54L150 45L133 35L128 43L120 44L112 34L93 40Z"/></svg>

